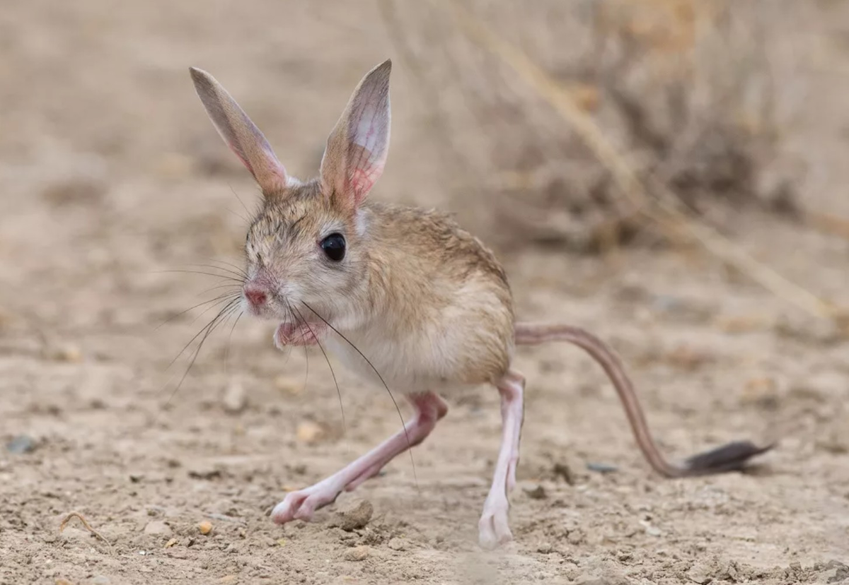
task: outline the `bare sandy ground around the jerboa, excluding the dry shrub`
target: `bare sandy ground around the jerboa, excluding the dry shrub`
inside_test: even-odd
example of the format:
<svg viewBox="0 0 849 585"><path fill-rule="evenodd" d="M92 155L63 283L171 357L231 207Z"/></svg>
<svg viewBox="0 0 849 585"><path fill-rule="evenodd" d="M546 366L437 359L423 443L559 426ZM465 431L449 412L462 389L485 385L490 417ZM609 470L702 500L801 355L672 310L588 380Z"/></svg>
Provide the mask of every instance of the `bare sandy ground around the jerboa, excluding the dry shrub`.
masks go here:
<svg viewBox="0 0 849 585"><path fill-rule="evenodd" d="M554 345L517 359L529 385L514 543L475 545L498 451L488 388L448 397L449 415L413 451L415 475L402 457L316 521L273 525L286 489L399 420L384 390L337 367L343 429L322 355L282 354L273 326L247 318L208 340L171 397L185 362L168 365L205 323L200 309L179 314L220 279L167 270L239 263L238 198L250 208L257 197L187 67L211 70L308 175L351 88L393 54L373 7L334 4L0 11L0 583L849 579L849 338L695 249L501 253L520 316L614 343L669 453L780 439L755 471L655 476L602 373ZM845 46L846 20L830 22ZM846 214L849 69L818 67L829 91L796 136L818 172L805 201ZM469 213L480 202L447 200L415 86L393 75L392 153L374 197ZM728 229L846 304L845 240L756 214ZM338 526L339 510L366 500L366 526ZM76 520L59 532L72 510L110 544Z"/></svg>

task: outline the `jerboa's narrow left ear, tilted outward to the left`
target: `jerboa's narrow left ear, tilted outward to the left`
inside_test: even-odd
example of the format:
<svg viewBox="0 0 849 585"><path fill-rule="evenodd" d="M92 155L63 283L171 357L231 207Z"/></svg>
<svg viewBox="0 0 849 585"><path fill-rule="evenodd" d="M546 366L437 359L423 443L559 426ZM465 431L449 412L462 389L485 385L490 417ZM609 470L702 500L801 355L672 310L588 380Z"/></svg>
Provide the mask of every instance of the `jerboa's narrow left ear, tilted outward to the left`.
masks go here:
<svg viewBox="0 0 849 585"><path fill-rule="evenodd" d="M265 194L278 192L286 187L287 177L283 164L274 155L262 132L250 121L248 114L239 108L215 78L204 70L190 68L194 89L204 103L218 134L227 142L236 156L254 175Z"/></svg>

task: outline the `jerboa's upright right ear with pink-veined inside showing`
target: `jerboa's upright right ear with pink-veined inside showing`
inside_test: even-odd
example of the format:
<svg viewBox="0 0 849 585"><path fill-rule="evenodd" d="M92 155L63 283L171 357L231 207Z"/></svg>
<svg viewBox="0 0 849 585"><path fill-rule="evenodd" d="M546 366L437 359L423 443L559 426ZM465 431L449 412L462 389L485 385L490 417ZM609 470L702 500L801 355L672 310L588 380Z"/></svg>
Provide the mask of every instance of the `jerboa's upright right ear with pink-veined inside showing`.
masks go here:
<svg viewBox="0 0 849 585"><path fill-rule="evenodd" d="M389 151L389 74L387 59L369 71L330 136L321 161L323 191L356 209L383 173Z"/></svg>

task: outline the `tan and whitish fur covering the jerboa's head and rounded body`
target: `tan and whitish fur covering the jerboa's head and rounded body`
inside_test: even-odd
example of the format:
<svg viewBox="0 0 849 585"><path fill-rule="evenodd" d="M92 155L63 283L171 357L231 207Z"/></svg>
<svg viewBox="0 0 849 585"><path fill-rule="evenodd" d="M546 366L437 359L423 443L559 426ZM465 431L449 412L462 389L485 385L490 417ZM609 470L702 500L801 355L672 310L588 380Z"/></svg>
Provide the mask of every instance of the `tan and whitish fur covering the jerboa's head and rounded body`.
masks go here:
<svg viewBox="0 0 849 585"><path fill-rule="evenodd" d="M332 231L348 243L339 265L318 248ZM251 277L272 279L306 320L318 322L301 303L329 320L393 390L496 382L508 369L514 315L506 276L446 214L385 203L351 214L310 181L267 198L246 248ZM344 339L330 332L325 341L374 376Z"/></svg>

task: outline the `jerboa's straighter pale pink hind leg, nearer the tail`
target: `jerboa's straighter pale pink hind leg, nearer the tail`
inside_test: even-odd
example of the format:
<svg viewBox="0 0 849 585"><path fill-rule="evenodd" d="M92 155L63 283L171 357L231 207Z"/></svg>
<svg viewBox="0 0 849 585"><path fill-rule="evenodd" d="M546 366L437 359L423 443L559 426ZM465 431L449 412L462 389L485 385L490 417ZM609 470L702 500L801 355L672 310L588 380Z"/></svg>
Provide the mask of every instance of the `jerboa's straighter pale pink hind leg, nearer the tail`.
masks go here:
<svg viewBox="0 0 849 585"><path fill-rule="evenodd" d="M483 515L478 523L478 542L485 549L492 549L513 539L510 532L507 494L516 485L516 465L519 463L519 443L522 432L525 394L525 376L509 370L496 385L501 394L501 448L492 487L483 504Z"/></svg>

